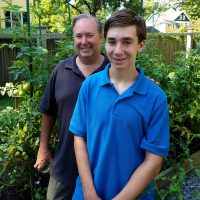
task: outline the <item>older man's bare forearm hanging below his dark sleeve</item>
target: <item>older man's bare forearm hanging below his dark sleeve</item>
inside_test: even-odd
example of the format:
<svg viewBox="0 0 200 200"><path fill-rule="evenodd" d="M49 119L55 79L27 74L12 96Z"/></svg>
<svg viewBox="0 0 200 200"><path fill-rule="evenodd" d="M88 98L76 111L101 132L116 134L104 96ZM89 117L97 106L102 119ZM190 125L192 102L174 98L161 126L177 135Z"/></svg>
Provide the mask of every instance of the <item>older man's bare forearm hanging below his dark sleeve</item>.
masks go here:
<svg viewBox="0 0 200 200"><path fill-rule="evenodd" d="M40 148L48 149L51 132L54 127L56 118L42 114Z"/></svg>

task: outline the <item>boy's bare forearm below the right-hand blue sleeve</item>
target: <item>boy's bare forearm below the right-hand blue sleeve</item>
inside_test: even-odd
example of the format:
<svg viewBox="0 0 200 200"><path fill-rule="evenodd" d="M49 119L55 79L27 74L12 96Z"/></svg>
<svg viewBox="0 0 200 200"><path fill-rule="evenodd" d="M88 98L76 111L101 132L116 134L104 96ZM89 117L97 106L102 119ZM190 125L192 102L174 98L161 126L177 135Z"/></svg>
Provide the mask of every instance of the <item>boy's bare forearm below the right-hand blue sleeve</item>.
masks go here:
<svg viewBox="0 0 200 200"><path fill-rule="evenodd" d="M136 199L159 173L162 160L161 156L147 152L144 162L136 169L129 182L113 200Z"/></svg>

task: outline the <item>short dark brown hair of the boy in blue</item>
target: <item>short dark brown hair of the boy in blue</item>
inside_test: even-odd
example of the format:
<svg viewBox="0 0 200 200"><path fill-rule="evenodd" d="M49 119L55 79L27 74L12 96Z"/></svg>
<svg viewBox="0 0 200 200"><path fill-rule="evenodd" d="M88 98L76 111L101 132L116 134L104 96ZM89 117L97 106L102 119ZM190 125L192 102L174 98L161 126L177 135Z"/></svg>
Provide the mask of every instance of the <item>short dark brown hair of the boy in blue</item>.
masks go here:
<svg viewBox="0 0 200 200"><path fill-rule="evenodd" d="M139 43L146 40L146 24L142 17L132 10L123 9L113 12L106 20L104 26L104 38L106 39L108 30L117 26L136 26Z"/></svg>

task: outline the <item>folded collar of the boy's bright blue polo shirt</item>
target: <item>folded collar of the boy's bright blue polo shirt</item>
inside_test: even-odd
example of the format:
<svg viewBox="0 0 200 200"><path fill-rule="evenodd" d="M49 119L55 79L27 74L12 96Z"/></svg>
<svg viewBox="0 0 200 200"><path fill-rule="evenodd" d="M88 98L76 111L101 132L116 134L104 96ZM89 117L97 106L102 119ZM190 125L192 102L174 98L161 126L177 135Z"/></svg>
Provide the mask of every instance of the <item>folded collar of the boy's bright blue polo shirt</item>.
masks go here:
<svg viewBox="0 0 200 200"><path fill-rule="evenodd" d="M101 85L111 85L112 83L110 82L110 77L109 77L109 68L110 68L110 63L106 65L105 70L103 70L103 76L101 78ZM139 76L135 83L129 88L133 93L137 93L140 95L146 95L147 93L147 79L144 75L144 72L142 69L136 67L137 71L139 72Z"/></svg>

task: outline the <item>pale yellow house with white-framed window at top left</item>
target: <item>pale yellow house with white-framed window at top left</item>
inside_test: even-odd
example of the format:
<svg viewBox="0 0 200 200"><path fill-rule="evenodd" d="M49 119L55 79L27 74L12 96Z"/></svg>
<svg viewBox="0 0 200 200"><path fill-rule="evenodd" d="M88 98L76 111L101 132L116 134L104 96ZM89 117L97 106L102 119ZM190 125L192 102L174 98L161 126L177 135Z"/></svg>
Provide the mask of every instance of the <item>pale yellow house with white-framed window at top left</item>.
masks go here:
<svg viewBox="0 0 200 200"><path fill-rule="evenodd" d="M33 0L29 1L33 4ZM12 0L12 5L20 7L18 13L13 13L11 10L4 10L8 6L5 2L0 0L0 28L15 28L20 24L27 23L26 1L25 0Z"/></svg>

